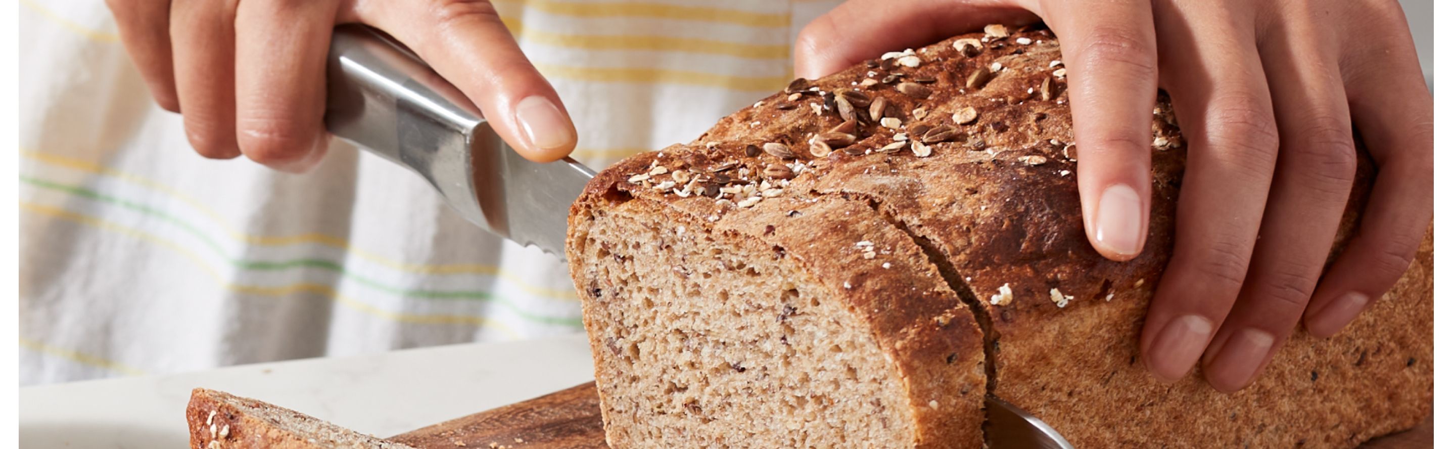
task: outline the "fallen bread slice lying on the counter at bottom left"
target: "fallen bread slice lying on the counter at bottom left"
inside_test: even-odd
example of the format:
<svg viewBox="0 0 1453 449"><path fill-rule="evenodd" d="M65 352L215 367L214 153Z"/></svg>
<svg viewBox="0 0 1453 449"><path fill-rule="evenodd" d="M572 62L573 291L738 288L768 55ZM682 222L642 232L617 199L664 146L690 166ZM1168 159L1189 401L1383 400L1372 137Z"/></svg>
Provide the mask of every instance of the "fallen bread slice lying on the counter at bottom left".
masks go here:
<svg viewBox="0 0 1453 449"><path fill-rule="evenodd" d="M195 449L413 449L283 407L196 388L186 405Z"/></svg>

